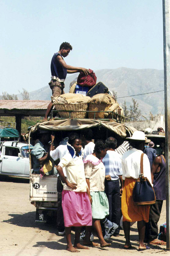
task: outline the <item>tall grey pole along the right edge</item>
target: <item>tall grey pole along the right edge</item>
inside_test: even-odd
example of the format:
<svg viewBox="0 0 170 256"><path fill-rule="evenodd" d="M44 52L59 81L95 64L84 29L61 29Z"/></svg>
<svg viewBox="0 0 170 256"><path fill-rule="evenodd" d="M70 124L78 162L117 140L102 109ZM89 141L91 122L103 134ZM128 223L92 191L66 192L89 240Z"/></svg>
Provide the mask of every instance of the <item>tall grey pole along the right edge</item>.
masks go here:
<svg viewBox="0 0 170 256"><path fill-rule="evenodd" d="M170 0L163 0L167 250L170 250Z"/></svg>

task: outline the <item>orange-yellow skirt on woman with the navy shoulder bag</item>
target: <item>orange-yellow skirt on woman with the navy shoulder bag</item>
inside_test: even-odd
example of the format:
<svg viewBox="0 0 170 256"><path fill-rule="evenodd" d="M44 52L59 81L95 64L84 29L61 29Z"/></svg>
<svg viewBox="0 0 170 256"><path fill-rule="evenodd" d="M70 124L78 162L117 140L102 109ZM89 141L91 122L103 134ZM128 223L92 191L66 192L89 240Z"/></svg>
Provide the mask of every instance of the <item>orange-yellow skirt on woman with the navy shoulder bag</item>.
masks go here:
<svg viewBox="0 0 170 256"><path fill-rule="evenodd" d="M136 180L125 178L125 186L122 193L123 221L135 222L144 220L148 222L150 205L137 205L133 201L132 191Z"/></svg>

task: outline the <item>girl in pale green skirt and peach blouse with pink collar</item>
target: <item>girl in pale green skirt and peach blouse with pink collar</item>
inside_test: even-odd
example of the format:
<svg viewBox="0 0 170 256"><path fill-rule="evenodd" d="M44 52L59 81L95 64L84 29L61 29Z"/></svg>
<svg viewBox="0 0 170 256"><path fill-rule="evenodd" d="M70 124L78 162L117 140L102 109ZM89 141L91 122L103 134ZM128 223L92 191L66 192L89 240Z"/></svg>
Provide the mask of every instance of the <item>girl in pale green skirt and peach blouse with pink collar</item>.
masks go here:
<svg viewBox="0 0 170 256"><path fill-rule="evenodd" d="M100 220L105 225L107 237L110 238L118 228L118 225L106 219L109 215L109 202L105 194L105 167L102 158L106 155L107 145L99 140L96 142L94 153L87 156L84 161L85 176L90 190L90 202L92 203L93 226L100 240L100 247L111 246L103 238ZM86 244L86 237L83 242Z"/></svg>

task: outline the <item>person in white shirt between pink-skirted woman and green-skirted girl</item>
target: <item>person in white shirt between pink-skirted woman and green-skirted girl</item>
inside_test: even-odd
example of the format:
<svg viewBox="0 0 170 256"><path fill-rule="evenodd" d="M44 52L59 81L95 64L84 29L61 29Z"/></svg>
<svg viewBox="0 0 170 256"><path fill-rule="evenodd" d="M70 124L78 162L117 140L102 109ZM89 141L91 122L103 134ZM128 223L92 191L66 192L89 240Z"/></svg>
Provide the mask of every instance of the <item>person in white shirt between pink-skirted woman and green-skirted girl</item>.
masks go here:
<svg viewBox="0 0 170 256"><path fill-rule="evenodd" d="M95 144L92 142L93 139L93 131L91 129L85 129L81 132L81 139L85 144L83 159L87 157L87 155L92 154L94 151Z"/></svg>

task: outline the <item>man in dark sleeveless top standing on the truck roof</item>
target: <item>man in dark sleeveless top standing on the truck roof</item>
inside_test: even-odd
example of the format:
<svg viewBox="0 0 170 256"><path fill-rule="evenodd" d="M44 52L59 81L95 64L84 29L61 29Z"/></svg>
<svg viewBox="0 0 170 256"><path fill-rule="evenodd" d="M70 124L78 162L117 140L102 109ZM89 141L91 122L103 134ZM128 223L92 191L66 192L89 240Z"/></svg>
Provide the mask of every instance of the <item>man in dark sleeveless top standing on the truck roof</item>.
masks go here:
<svg viewBox="0 0 170 256"><path fill-rule="evenodd" d="M64 94L64 80L66 79L67 73L73 74L84 72L85 75L89 73L88 69L73 67L66 64L63 58L67 57L71 50L72 46L70 43L62 43L58 53L55 53L51 59L51 82L49 82L49 85L53 97ZM50 102L43 121L47 121L52 108L53 104Z"/></svg>

